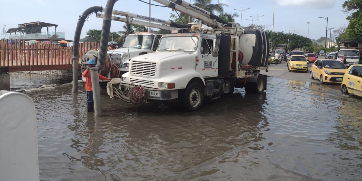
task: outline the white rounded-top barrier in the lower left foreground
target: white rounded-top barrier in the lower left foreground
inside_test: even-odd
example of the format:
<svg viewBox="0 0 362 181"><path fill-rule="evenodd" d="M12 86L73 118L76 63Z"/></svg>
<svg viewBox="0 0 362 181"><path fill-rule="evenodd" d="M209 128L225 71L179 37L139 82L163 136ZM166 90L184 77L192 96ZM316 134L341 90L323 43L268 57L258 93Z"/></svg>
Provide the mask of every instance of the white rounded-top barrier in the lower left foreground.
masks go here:
<svg viewBox="0 0 362 181"><path fill-rule="evenodd" d="M35 106L23 93L0 96L0 180L39 180Z"/></svg>

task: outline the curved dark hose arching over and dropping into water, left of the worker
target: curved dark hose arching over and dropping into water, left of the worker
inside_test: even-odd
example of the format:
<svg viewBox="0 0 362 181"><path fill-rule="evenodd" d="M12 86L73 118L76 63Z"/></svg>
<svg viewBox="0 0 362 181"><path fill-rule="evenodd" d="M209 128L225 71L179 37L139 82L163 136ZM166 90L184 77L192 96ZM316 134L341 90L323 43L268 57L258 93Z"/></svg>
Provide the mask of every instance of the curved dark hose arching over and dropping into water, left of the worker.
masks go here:
<svg viewBox="0 0 362 181"><path fill-rule="evenodd" d="M102 12L102 7L100 6L94 6L90 7L87 10L83 12L81 16L79 16L79 20L77 23L77 27L75 28L74 33L74 41L73 41L73 52L72 52L72 58L73 58L73 92L78 92L78 61L79 61L79 38L80 33L82 32L82 28L85 22L85 19L89 16L89 14L92 14L93 12Z"/></svg>

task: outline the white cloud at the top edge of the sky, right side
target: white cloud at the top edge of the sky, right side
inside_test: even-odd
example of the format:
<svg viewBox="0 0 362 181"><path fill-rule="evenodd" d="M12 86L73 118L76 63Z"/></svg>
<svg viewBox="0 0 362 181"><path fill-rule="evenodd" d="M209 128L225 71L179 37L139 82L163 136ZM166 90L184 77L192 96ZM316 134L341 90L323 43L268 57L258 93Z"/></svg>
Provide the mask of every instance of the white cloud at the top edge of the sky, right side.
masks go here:
<svg viewBox="0 0 362 181"><path fill-rule="evenodd" d="M333 8L336 0L277 0L281 6L304 6L313 9Z"/></svg>

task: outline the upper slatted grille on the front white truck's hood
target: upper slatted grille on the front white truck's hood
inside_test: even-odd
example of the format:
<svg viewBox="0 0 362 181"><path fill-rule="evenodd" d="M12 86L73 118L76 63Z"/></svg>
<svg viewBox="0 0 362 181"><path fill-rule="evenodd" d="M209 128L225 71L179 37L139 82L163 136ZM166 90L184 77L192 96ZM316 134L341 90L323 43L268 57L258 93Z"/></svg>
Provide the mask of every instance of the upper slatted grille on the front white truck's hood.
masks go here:
<svg viewBox="0 0 362 181"><path fill-rule="evenodd" d="M156 77L156 63L132 61L131 74Z"/></svg>

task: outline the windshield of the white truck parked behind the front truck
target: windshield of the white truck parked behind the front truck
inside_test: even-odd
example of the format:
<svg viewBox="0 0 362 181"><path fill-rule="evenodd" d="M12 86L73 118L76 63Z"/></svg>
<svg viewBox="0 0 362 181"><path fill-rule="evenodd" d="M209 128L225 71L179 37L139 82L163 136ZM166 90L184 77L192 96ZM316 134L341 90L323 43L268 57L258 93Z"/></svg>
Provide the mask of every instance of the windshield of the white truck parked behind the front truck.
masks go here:
<svg viewBox="0 0 362 181"><path fill-rule="evenodd" d="M123 44L123 48L148 49L152 47L153 35L129 35Z"/></svg>

